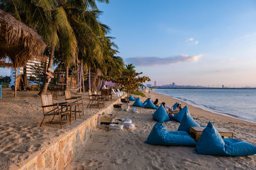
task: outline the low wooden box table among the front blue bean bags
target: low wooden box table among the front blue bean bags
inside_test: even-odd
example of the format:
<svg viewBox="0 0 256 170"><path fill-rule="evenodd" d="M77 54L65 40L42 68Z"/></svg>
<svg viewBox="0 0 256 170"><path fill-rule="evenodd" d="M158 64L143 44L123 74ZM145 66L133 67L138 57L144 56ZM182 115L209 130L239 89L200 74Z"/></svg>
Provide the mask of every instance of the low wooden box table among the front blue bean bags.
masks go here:
<svg viewBox="0 0 256 170"><path fill-rule="evenodd" d="M190 133L192 137L196 138L196 142L200 138L202 132L204 131L205 127L190 127ZM233 132L229 132L227 129L224 128L216 128L216 130L219 132L221 135L221 138L224 138L227 136L228 138L233 138Z"/></svg>

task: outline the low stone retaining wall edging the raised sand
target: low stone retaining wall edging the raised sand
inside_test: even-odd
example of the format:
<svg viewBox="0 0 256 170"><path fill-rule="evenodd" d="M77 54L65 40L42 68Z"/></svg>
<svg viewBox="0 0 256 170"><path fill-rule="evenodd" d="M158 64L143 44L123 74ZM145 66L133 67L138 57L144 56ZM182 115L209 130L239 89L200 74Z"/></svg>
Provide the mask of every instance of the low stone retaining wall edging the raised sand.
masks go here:
<svg viewBox="0 0 256 170"><path fill-rule="evenodd" d="M12 165L10 169L64 169L83 150L87 141L92 138L93 129L97 127L98 115L111 113L113 111L113 104L118 103L119 100L99 110L78 127L58 137L56 143L52 143L46 150L36 152L35 157L32 159L22 162L18 167Z"/></svg>

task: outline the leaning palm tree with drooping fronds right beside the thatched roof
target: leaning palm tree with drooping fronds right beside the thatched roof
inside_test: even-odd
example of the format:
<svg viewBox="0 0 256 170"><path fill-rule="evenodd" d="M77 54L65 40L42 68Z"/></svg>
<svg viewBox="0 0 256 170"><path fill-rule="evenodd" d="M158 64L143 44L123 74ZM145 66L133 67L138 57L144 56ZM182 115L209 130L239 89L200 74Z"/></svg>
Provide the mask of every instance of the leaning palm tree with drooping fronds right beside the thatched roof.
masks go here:
<svg viewBox="0 0 256 170"><path fill-rule="evenodd" d="M98 1L109 2L108 0ZM83 37L87 36L86 33L90 32L88 30L92 28L88 27L83 30L81 27L86 26L83 23L86 10L97 10L97 5L94 0L5 0L0 3L0 8L12 12L16 18L36 29L45 41L47 41L47 44L51 46L49 64L47 67L47 70L49 70L52 66L54 52L59 46L62 47L62 56L66 60L67 67L70 65L71 60L76 59L76 35L81 33L82 36L79 34L79 37ZM72 25L80 25L79 33L75 34L77 27L73 29L70 23L72 23ZM81 30L83 30L83 32L81 32ZM99 48L99 46L97 48ZM47 81L45 81L40 94L46 92L49 84L49 76L46 76L45 80Z"/></svg>

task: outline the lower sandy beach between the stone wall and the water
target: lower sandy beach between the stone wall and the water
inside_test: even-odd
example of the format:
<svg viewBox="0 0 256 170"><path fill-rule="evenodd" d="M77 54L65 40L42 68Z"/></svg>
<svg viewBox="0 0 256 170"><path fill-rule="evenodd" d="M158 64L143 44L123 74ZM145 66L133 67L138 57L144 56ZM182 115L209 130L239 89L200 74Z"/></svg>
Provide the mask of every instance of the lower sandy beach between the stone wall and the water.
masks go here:
<svg viewBox="0 0 256 170"><path fill-rule="evenodd" d="M172 106L176 99L161 94L150 93L147 97ZM144 97L141 101L147 99ZM215 127L223 127L234 132L234 138L256 145L256 124L225 117L189 106L191 116L200 125L209 121ZM131 102L130 104L132 104ZM105 131L97 128L84 151L66 169L256 169L256 155L247 157L216 157L193 153L195 147L155 146L145 144L156 121L152 119L155 110L137 108L138 114L115 109L118 118L131 118L135 128L124 131ZM168 131L177 131L179 123L164 122Z"/></svg>

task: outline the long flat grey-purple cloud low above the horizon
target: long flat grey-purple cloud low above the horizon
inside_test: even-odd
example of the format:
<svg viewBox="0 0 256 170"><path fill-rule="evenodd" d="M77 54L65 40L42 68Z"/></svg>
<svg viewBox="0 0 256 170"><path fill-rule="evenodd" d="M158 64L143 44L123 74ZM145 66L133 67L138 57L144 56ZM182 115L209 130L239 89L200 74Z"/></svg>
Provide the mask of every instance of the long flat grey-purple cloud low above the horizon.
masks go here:
<svg viewBox="0 0 256 170"><path fill-rule="evenodd" d="M134 66L158 66L175 64L179 62L197 62L202 54L199 55L177 55L172 57L131 57L126 59L126 62L132 63Z"/></svg>

